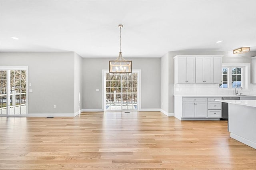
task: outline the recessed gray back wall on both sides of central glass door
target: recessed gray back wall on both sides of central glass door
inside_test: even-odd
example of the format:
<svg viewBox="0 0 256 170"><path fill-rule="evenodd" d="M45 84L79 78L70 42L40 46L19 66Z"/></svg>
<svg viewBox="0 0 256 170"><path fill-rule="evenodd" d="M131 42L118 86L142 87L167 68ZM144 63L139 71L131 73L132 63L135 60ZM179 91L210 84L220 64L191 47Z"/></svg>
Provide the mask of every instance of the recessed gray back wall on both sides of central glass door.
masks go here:
<svg viewBox="0 0 256 170"><path fill-rule="evenodd" d="M108 69L108 61L114 59L83 58L83 109L103 109L102 69ZM141 109L159 109L160 58L126 60L132 60L132 69L141 70Z"/></svg>

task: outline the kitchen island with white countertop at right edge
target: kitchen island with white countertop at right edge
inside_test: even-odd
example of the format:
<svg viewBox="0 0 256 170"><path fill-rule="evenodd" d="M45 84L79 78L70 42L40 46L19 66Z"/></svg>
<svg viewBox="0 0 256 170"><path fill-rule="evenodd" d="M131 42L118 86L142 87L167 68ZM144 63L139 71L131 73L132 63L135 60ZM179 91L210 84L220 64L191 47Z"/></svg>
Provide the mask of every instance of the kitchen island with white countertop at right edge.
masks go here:
<svg viewBox="0 0 256 170"><path fill-rule="evenodd" d="M215 101L229 104L230 137L256 149L256 100Z"/></svg>

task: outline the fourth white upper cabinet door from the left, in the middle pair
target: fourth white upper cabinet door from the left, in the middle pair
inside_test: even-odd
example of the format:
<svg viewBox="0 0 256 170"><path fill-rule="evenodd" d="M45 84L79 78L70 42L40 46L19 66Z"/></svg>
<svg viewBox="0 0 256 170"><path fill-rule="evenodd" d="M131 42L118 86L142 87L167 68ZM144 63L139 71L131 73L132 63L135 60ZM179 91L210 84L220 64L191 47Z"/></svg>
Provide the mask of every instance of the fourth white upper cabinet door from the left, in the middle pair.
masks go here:
<svg viewBox="0 0 256 170"><path fill-rule="evenodd" d="M213 83L213 57L204 57L204 82Z"/></svg>

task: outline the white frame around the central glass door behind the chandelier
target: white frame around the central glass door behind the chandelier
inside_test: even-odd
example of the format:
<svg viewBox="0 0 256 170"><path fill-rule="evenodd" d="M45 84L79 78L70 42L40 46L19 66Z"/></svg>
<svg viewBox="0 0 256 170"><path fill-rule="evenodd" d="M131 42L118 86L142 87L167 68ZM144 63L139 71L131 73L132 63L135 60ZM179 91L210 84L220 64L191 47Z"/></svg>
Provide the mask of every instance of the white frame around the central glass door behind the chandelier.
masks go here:
<svg viewBox="0 0 256 170"><path fill-rule="evenodd" d="M106 111L106 79L105 79L105 75L106 73L108 73L109 70L107 69L103 69L102 70L102 109L103 111ZM138 82L137 82L137 105L138 105L138 109L136 110L113 110L113 111L140 111L140 73L141 70L140 69L132 69L132 73L137 73L137 77L138 77Z"/></svg>

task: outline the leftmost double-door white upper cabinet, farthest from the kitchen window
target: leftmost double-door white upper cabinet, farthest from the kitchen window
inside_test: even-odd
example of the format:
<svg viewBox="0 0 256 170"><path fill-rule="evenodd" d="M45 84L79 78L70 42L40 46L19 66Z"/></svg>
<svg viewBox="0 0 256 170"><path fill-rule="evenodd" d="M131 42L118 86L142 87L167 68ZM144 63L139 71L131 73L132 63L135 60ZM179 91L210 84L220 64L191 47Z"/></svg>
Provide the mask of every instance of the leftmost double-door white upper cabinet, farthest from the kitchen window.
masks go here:
<svg viewBox="0 0 256 170"><path fill-rule="evenodd" d="M195 83L196 58L174 57L174 83Z"/></svg>

